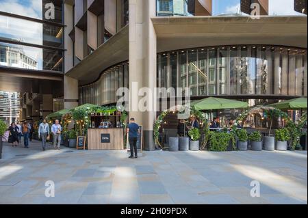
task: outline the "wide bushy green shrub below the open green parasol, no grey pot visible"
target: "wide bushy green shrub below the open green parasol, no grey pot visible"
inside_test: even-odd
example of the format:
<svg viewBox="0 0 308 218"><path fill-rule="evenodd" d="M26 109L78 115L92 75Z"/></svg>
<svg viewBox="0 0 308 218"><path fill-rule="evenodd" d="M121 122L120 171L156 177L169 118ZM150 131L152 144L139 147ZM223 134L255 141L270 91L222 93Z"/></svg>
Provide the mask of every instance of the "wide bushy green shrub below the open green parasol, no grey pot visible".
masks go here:
<svg viewBox="0 0 308 218"><path fill-rule="evenodd" d="M231 134L228 133L209 133L209 150L216 152L224 152L229 146L229 141L231 140Z"/></svg>

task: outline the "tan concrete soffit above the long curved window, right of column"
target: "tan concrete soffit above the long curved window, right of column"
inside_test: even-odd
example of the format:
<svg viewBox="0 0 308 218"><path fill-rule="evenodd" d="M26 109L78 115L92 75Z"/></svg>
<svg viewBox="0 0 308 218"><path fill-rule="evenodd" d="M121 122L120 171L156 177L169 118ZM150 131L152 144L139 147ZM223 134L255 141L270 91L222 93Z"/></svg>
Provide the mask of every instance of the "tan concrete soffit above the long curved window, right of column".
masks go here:
<svg viewBox="0 0 308 218"><path fill-rule="evenodd" d="M153 17L157 53L201 46L271 44L307 48L307 16Z"/></svg>

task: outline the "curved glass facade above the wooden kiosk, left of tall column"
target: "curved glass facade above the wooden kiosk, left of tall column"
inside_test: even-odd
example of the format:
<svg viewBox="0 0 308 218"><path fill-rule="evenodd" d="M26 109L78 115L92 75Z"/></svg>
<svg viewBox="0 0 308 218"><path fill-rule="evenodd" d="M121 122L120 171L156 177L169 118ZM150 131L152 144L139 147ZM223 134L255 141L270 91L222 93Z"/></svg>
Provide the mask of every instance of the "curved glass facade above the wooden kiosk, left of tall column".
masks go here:
<svg viewBox="0 0 308 218"><path fill-rule="evenodd" d="M108 105L116 103L119 87L128 87L128 63L118 64L101 74L94 83L79 87L79 104Z"/></svg>

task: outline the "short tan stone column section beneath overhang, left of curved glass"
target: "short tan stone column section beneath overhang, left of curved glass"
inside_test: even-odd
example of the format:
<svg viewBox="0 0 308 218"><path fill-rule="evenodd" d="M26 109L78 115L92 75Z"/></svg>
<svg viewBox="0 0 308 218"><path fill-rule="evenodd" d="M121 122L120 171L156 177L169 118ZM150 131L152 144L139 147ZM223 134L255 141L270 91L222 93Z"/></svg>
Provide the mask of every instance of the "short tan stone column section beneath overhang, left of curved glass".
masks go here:
<svg viewBox="0 0 308 218"><path fill-rule="evenodd" d="M78 80L64 75L64 109L78 106Z"/></svg>

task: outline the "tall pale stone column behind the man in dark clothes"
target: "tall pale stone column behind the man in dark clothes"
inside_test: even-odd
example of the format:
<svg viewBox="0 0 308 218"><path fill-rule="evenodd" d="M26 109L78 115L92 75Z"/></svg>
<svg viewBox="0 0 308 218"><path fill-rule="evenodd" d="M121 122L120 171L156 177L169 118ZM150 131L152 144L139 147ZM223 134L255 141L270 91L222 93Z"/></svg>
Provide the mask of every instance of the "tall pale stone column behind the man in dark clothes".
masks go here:
<svg viewBox="0 0 308 218"><path fill-rule="evenodd" d="M129 1L129 117L143 126L144 150L155 150L153 140L153 124L155 122L154 105L156 98L153 96L156 87L156 33L151 21L155 16L155 1L130 0ZM133 86L133 83L138 83ZM152 95L136 96L133 89L146 87ZM147 104L153 105L150 110L140 111L138 103L140 99L146 100Z"/></svg>

